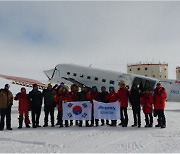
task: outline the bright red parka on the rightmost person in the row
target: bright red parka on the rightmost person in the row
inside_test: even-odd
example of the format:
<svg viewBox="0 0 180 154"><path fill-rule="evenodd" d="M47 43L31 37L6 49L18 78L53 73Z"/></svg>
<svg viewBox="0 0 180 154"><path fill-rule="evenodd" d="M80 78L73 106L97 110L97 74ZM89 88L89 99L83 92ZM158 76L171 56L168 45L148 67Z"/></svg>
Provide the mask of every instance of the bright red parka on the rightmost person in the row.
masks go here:
<svg viewBox="0 0 180 154"><path fill-rule="evenodd" d="M154 109L164 110L166 104L166 90L164 87L154 89Z"/></svg>

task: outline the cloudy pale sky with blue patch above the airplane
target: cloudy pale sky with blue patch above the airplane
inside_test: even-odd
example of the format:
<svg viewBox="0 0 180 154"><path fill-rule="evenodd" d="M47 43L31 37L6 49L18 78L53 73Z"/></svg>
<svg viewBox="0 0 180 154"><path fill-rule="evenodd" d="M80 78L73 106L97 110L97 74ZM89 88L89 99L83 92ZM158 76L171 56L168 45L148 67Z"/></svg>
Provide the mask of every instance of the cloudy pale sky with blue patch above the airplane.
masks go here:
<svg viewBox="0 0 180 154"><path fill-rule="evenodd" d="M180 65L180 2L0 1L1 74L46 79L74 63L126 72L127 63Z"/></svg>

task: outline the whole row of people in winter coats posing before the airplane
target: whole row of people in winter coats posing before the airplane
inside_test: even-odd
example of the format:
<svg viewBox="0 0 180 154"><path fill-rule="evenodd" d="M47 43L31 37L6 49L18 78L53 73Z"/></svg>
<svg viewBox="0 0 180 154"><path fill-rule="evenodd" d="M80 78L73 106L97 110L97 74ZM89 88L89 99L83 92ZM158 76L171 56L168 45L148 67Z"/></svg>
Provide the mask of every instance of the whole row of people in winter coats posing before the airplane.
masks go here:
<svg viewBox="0 0 180 154"><path fill-rule="evenodd" d="M85 121L86 127L99 126L100 121L102 126L106 124L109 126L121 125L122 127L127 127L129 120L127 107L129 104L132 106L133 110L134 124L132 127L141 127L141 106L145 115L145 127L153 126L153 116L158 116L158 124L155 127L166 127L164 108L167 94L165 88L162 87L160 83L157 83L153 92L150 91L149 88L142 91L135 84L133 84L129 90L123 80L119 82L119 90L117 92L114 87L109 87L108 92L104 86L101 87L101 92L98 91L96 86L93 86L92 88L82 86L79 90L79 87L76 84L72 84L69 90L64 83L55 85L54 87L52 87L51 84L48 84L47 88L41 92L38 90L38 85L33 84L33 89L29 94L27 94L26 89L22 87L21 91L17 93L14 98L9 87L9 84L6 84L3 89L0 89L0 130L4 130L5 117L7 130L12 130L11 107L13 105L13 100L19 101L19 129L22 128L23 121L26 128L30 128L29 111L31 111L32 127L41 127L39 119L43 102L45 114L43 127L48 127L49 115L51 126L55 126L54 111L56 107L58 110L56 125L59 125L60 127L69 127L75 124L82 127L83 121L81 120L75 120L75 123L73 123L73 120L69 121L62 119L63 103L76 101L92 102L92 120ZM119 101L121 123L117 124L117 120L94 119L93 100L104 103Z"/></svg>

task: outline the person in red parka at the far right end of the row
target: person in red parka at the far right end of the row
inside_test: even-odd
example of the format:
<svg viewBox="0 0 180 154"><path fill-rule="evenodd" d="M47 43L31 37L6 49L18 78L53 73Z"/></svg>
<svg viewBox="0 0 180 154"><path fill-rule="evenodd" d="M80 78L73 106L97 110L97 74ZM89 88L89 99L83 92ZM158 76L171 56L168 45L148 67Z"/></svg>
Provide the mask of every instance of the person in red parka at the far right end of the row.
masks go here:
<svg viewBox="0 0 180 154"><path fill-rule="evenodd" d="M165 88L161 86L161 83L157 83L154 89L154 116L158 116L158 124L156 127L166 127L166 118L164 115L166 98L167 94Z"/></svg>

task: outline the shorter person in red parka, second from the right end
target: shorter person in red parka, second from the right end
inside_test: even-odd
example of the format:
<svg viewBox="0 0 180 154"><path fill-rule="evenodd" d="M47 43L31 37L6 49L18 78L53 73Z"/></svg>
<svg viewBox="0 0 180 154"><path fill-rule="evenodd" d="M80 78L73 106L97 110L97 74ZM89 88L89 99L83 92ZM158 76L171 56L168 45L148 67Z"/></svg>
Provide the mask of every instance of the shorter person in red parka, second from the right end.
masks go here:
<svg viewBox="0 0 180 154"><path fill-rule="evenodd" d="M141 96L141 105L143 107L143 112L145 115L145 127L152 127L153 126L153 95L152 92L147 88L145 93Z"/></svg>

